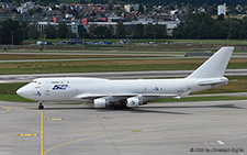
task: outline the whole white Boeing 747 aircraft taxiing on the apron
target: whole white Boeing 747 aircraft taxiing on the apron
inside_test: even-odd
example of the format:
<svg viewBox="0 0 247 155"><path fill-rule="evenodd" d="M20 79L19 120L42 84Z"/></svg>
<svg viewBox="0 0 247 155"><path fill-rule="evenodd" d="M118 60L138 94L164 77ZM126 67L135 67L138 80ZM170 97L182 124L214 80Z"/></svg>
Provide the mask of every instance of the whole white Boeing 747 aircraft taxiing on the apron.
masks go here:
<svg viewBox="0 0 247 155"><path fill-rule="evenodd" d="M228 84L225 69L234 47L222 47L190 76L181 79L37 78L20 88L21 97L42 101L93 102L94 108L138 107L156 99L186 97Z"/></svg>

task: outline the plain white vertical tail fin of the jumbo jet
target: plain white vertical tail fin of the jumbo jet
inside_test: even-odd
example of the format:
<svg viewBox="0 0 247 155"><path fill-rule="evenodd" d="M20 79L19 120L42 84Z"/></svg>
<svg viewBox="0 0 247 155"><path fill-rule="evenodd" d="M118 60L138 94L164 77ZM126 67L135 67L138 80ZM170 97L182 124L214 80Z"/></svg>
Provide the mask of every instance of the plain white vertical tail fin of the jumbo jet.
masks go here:
<svg viewBox="0 0 247 155"><path fill-rule="evenodd" d="M234 47L222 47L187 78L223 77Z"/></svg>

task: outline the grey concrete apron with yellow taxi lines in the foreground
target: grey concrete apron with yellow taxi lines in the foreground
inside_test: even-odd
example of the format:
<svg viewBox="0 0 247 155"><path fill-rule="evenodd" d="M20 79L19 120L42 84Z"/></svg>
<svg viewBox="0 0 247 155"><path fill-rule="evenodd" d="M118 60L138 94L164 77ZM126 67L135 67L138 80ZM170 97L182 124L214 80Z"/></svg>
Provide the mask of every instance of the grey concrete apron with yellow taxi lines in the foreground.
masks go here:
<svg viewBox="0 0 247 155"><path fill-rule="evenodd" d="M247 154L247 100L36 107L0 101L1 155Z"/></svg>

